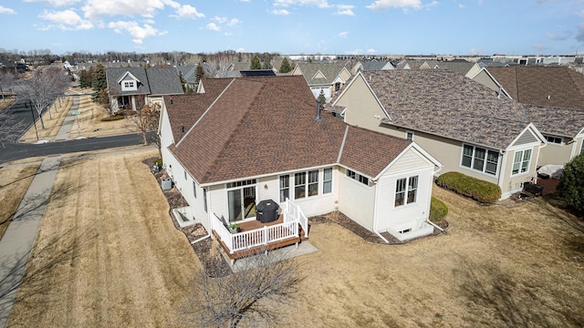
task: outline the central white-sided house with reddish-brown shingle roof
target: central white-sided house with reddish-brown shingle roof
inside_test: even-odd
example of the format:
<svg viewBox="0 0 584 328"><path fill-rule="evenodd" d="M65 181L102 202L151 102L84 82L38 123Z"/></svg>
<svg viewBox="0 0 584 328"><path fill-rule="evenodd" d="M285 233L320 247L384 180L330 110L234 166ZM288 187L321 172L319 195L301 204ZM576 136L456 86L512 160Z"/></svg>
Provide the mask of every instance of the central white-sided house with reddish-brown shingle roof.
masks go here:
<svg viewBox="0 0 584 328"><path fill-rule="evenodd" d="M255 221L261 200L279 204L282 224L296 224L287 221L294 213L339 210L400 240L433 231L426 220L441 164L416 143L320 113L303 77L214 78L200 86L165 98L162 159L189 203L184 218L201 222L230 253L245 232L229 235L222 222Z"/></svg>

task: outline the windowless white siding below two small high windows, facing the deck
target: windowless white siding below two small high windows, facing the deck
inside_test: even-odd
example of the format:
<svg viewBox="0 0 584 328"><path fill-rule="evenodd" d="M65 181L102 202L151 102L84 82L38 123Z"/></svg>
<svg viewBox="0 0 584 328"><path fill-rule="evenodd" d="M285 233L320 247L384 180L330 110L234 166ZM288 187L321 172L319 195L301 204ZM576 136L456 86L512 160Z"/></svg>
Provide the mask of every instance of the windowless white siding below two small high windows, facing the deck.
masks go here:
<svg viewBox="0 0 584 328"><path fill-rule="evenodd" d="M344 171L339 175L339 210L372 231L376 186L369 187L350 179Z"/></svg>

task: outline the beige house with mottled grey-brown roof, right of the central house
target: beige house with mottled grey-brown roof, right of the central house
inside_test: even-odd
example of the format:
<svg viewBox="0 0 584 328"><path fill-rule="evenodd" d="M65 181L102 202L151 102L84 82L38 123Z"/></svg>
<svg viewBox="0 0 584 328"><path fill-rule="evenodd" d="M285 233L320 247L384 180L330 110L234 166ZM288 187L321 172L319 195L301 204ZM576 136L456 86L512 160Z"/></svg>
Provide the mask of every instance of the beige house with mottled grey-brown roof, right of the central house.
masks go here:
<svg viewBox="0 0 584 328"><path fill-rule="evenodd" d="M504 199L536 176L546 145L520 104L447 70L361 72L331 105L350 125L411 138L441 172L497 184Z"/></svg>

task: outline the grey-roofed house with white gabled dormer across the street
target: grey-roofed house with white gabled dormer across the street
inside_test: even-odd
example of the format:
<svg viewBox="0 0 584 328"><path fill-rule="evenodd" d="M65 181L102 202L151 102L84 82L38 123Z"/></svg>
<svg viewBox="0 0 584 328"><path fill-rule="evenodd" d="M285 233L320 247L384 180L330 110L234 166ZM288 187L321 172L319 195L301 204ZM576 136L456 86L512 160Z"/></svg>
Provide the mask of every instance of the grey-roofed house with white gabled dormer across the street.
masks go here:
<svg viewBox="0 0 584 328"><path fill-rule="evenodd" d="M174 67L106 67L106 78L114 110L136 110L152 103L162 105L163 96L183 94Z"/></svg>

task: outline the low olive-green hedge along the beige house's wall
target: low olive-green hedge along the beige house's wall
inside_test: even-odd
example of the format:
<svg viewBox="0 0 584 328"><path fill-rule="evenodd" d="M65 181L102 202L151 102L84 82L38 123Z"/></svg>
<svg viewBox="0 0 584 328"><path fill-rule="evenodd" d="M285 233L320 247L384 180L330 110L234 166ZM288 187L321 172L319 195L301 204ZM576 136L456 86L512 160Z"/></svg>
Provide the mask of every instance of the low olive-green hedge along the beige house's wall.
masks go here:
<svg viewBox="0 0 584 328"><path fill-rule="evenodd" d="M460 172L446 172L436 179L436 184L483 203L494 203L501 198L501 188L495 183L469 177Z"/></svg>

